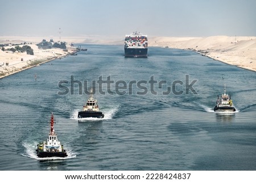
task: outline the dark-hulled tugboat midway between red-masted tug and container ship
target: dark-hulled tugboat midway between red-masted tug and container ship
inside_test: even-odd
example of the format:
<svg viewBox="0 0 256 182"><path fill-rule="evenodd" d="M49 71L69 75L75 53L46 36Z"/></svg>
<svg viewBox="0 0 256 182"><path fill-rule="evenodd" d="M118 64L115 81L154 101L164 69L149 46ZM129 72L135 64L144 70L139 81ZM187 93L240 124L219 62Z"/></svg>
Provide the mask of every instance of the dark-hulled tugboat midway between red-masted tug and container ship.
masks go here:
<svg viewBox="0 0 256 182"><path fill-rule="evenodd" d="M84 117L104 118L104 114L98 108L97 100L93 98L92 90L90 91L90 96L86 101L86 104L83 106L83 111L79 111L78 117L79 118L84 118Z"/></svg>

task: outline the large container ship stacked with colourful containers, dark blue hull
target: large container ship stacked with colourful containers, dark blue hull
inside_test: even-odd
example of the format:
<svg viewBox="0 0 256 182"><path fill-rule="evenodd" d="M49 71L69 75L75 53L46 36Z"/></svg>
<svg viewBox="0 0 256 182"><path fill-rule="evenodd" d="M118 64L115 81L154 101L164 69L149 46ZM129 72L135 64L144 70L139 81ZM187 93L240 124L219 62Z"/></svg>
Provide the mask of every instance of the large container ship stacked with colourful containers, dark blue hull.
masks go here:
<svg viewBox="0 0 256 182"><path fill-rule="evenodd" d="M147 57L147 35L139 32L126 35L125 57Z"/></svg>

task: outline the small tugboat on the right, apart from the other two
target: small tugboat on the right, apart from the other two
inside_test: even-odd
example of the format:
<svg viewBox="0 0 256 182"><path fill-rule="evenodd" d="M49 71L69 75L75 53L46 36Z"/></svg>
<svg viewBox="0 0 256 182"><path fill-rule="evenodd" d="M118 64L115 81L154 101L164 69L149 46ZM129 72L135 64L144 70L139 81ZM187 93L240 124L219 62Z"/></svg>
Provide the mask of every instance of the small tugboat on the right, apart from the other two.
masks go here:
<svg viewBox="0 0 256 182"><path fill-rule="evenodd" d="M226 94L226 85L224 86L224 94L221 95L216 101L216 106L214 107L215 112L235 112L236 108L233 107L233 102L231 96Z"/></svg>

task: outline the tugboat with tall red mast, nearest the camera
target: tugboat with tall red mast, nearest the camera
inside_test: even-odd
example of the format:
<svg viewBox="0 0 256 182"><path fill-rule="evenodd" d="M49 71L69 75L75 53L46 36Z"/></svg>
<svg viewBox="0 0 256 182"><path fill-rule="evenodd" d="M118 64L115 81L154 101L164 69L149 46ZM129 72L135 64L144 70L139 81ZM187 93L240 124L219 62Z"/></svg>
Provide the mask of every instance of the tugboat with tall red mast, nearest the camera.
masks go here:
<svg viewBox="0 0 256 182"><path fill-rule="evenodd" d="M36 149L36 155L39 158L48 158L52 156L62 157L68 156L66 151L63 149L63 145L58 141L57 134L53 129L54 118L53 113L51 116L51 129L47 142L40 142L38 144L38 149Z"/></svg>

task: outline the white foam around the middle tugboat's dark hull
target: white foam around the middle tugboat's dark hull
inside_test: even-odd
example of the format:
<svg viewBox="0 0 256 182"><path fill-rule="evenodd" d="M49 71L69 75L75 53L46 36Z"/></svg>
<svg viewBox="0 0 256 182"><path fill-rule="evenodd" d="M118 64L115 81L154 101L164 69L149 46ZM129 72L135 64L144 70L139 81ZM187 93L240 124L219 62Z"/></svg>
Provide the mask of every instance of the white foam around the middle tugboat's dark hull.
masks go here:
<svg viewBox="0 0 256 182"><path fill-rule="evenodd" d="M72 120L87 120L87 121L98 121L98 120L110 120L113 118L113 116L115 115L115 113L118 111L119 106L115 107L115 108L110 108L110 109L103 109L102 113L104 113L104 118L96 118L96 117L86 117L86 118L78 118L78 113L79 113L79 109L73 111L72 115L71 115L71 119Z"/></svg>

